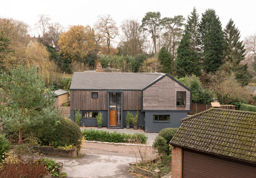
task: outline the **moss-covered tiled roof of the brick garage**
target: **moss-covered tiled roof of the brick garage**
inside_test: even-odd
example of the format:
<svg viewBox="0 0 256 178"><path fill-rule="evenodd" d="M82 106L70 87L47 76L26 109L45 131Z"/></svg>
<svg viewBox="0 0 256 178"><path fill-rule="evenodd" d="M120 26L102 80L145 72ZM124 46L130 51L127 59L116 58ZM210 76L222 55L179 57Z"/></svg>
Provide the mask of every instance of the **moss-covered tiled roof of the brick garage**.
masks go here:
<svg viewBox="0 0 256 178"><path fill-rule="evenodd" d="M256 112L200 112L182 119L170 144L256 163Z"/></svg>

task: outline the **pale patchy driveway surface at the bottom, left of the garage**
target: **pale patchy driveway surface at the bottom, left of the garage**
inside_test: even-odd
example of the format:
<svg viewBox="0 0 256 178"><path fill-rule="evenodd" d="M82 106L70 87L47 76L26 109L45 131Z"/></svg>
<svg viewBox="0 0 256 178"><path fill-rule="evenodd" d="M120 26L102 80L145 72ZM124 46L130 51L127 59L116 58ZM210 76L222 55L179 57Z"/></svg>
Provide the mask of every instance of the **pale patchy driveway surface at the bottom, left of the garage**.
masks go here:
<svg viewBox="0 0 256 178"><path fill-rule="evenodd" d="M67 178L134 178L128 174L129 163L135 162L134 154L120 154L95 150L81 150L78 158L51 157L63 163Z"/></svg>

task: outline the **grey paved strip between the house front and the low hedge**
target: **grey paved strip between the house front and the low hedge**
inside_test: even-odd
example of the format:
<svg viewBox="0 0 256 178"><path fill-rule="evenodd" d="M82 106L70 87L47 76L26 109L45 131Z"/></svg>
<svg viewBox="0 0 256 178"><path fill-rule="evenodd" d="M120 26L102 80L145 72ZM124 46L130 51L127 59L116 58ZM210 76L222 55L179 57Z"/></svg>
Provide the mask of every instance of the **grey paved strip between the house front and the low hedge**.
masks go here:
<svg viewBox="0 0 256 178"><path fill-rule="evenodd" d="M133 134L133 133L144 133L142 130L133 130L133 129L107 129L107 128L101 128L101 129L98 129L98 128L90 128L90 127L80 127L81 130L83 129L94 129L94 130L101 130L101 131L107 131L107 132L117 132L117 133L130 133L130 134ZM147 145L148 146L152 146L156 136L158 135L158 133L145 133L147 136L148 136L148 140L147 140Z"/></svg>

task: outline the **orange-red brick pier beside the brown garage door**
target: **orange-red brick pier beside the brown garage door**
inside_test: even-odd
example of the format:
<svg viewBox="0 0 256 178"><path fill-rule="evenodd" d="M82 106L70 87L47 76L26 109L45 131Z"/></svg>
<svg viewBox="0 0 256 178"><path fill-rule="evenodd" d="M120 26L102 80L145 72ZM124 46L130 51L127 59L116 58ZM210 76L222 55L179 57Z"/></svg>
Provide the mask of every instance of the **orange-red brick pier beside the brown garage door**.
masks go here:
<svg viewBox="0 0 256 178"><path fill-rule="evenodd" d="M182 178L182 149L172 149L172 178Z"/></svg>

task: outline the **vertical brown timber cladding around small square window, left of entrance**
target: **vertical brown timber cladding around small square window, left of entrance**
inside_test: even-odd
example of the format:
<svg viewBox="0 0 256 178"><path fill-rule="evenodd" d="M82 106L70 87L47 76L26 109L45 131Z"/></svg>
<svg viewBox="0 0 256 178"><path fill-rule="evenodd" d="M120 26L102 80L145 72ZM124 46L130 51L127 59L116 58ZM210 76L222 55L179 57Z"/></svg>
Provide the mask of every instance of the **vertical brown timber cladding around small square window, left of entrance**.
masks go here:
<svg viewBox="0 0 256 178"><path fill-rule="evenodd" d="M98 99L92 99L92 92L98 92ZM108 91L71 90L70 100L71 110L108 110Z"/></svg>

